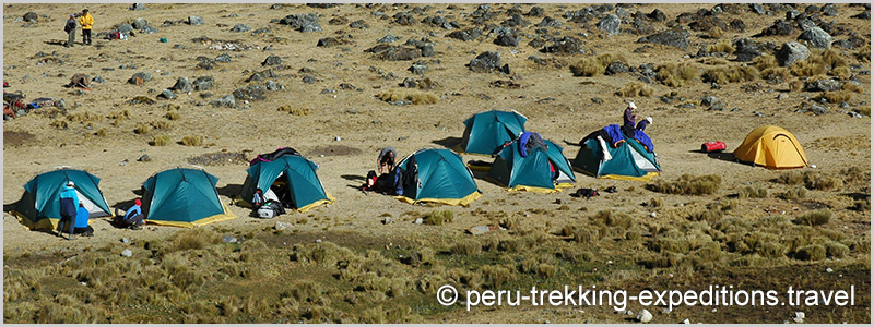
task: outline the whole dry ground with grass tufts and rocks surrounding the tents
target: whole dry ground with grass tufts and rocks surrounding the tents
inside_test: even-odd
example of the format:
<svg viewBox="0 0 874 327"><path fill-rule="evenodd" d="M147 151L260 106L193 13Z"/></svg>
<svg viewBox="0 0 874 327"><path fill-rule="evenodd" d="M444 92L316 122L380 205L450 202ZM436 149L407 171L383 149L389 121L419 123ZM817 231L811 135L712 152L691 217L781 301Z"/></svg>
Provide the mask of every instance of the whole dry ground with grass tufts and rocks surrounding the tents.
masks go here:
<svg viewBox="0 0 874 327"><path fill-rule="evenodd" d="M76 33L63 47L84 8L93 45ZM870 4L135 9L4 4L4 90L49 99L3 122L4 323L634 323L642 310L664 324L871 323ZM134 35L102 37L122 24ZM794 41L806 59L778 55ZM475 60L489 51L497 62ZM75 74L86 88L66 86ZM193 87L170 90L180 77ZM651 181L576 172L544 194L474 171L482 197L466 206L361 191L382 147L453 148L464 120L493 109L572 159L628 101L652 117ZM763 125L791 132L808 167L734 160ZM728 147L702 153L710 141ZM333 203L272 219L232 205L249 160L279 147L318 165ZM217 178L236 219L129 230L98 218L94 237L68 241L11 214L54 167L94 174L127 208L150 177L188 165ZM600 195L570 196L581 187ZM477 226L491 228L468 232ZM848 306L466 311L437 302L445 284L855 293Z"/></svg>

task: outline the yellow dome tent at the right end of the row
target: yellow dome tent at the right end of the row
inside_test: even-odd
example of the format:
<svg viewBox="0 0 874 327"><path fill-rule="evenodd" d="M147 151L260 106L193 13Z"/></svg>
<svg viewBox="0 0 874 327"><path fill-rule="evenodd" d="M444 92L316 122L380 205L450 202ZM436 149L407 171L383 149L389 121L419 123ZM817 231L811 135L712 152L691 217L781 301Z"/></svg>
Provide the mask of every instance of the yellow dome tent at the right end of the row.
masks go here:
<svg viewBox="0 0 874 327"><path fill-rule="evenodd" d="M795 136L782 128L765 125L746 135L734 149L734 158L769 169L791 169L807 166L804 149Z"/></svg>

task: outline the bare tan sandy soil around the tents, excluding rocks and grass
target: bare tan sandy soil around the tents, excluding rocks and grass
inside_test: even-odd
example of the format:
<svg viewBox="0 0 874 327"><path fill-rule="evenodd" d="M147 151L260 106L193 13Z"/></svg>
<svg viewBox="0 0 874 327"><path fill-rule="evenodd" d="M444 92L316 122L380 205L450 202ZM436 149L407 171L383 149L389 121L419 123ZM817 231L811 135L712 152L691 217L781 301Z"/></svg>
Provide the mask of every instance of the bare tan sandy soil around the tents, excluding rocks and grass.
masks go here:
<svg viewBox="0 0 874 327"><path fill-rule="evenodd" d="M594 23L584 28L579 24L569 23L563 17L565 11L577 10L588 4L541 5L545 14L562 21L565 27L552 28L565 35L576 35L586 32L588 37L581 37L586 48L597 53L622 53L630 65L642 63L693 62L694 59L684 59L685 53L694 55L702 44L713 40L701 38L693 32L692 46L685 51L661 45L652 45L646 52L635 53L633 50L643 46L636 40L641 35L621 33L612 37L604 37L597 33ZM82 8L90 8L95 17L95 34L109 31L113 25L128 22L135 17L147 20L152 26L160 29L154 34L138 34L127 41L94 39L94 46L84 47L79 44L81 35L76 35L76 46L64 48L52 40L66 39L62 32L64 17ZM707 141L724 141L729 150L736 147L744 136L753 129L764 124L776 124L791 131L801 144L816 169L823 171L839 171L842 168L857 166L870 171L871 162L871 120L865 117L853 119L847 114L831 113L812 116L810 113L793 112L798 106L805 101L805 96L814 97L815 93L790 92L789 98L778 100L777 95L787 90L787 84L768 85L763 90L746 93L741 86L744 83L723 85L721 89L710 89L702 82L694 82L682 88L670 88L660 84L651 84L656 89L651 97L625 98L616 96L614 92L625 83L637 81L634 74L619 74L615 76L575 77L568 68L557 69L552 65L539 66L528 60L529 56L542 59L554 58L565 63L574 63L587 56L560 56L541 53L536 48L528 46L528 39L516 48L500 47L492 43L494 37L481 40L461 41L444 37L450 31L416 23L412 26L401 26L389 23L391 19L381 20L370 14L371 11L382 11L388 16L395 12L406 11L403 5L377 7L373 9L356 8L354 4L339 8L316 9L303 4L293 4L287 8L272 10L270 4L149 4L145 11L129 11L129 4L7 4L3 10L3 73L4 81L11 84L8 92L22 90L27 99L38 97L62 97L70 113L90 111L102 117L91 122L91 128L83 123L69 122L69 128L59 130L51 125L52 118L31 113L3 123L3 203L9 205L16 202L23 192L22 185L34 175L50 170L51 167L67 165L90 171L102 179L101 187L110 206L132 201L138 190L153 173L166 168L186 165L188 158L204 154L227 152L247 152L251 157L256 153L265 153L281 146L292 146L320 165L318 171L324 187L336 197L333 205L320 207L307 214L291 214L274 220L259 220L248 217L248 209L232 207L239 216L238 219L223 221L206 228L229 229L245 232L249 230L272 227L275 220L294 222L299 217L307 215L315 217L330 217L331 230L334 232L357 231L373 233L386 238L402 238L414 231L418 226L412 223L394 223L383 226L379 215L382 213L404 213L420 210L427 213L429 208L418 208L393 198L380 195L366 195L357 191L367 170L374 169L376 155L383 146L393 146L399 155L404 156L423 147L442 147L456 142L463 132L462 121L473 113L489 109L515 109L529 118L528 130L540 132L547 138L556 142L562 140L578 141L586 134L611 123L621 123L624 102L634 100L638 106L640 116L652 116L654 123L647 130L657 145L663 173L659 179L675 179L684 173L693 174L720 174L724 182L718 196L736 192L747 183L763 184L779 175L780 172L763 168L753 168L731 160L720 160L697 153L700 144ZM427 12L427 15L437 14L437 10L445 10L442 15L452 17L470 27L472 23L462 16L462 12L470 14L476 8L473 4L456 5L458 9L447 10L446 4L437 4ZM506 19L504 13L511 5L495 4L493 10L500 14L492 22L499 24ZM522 5L522 12L528 12L531 5ZM694 12L698 8L711 8L712 4L642 4L635 5L629 12L640 10L645 13L659 8L665 12L669 21L683 12ZM838 5L840 15L835 21L847 24L852 31L869 38L870 21L850 19L850 15L860 12L860 8L849 8L847 4ZM803 10L803 7L802 7ZM29 27L23 27L24 22L16 22L28 11L35 11L50 19L40 17L39 22ZM282 19L288 14L317 13L319 22L324 29L319 33L299 33L288 26L272 24L270 20ZM202 16L204 25L189 26L185 23L176 26L163 27L165 20L186 20L189 14ZM229 16L236 14L235 16ZM424 15L424 16L427 16ZM365 20L370 27L367 29L353 29L347 24L331 25L332 17L342 16L349 22ZM416 15L416 21L424 16ZM752 36L769 26L777 16L756 15L751 12L739 15L745 24L746 32L725 32L722 39ZM533 34L541 17L525 20L531 25L524 27L527 33ZM830 17L831 19L831 17ZM272 29L265 36L252 36L249 33L234 33L231 27L235 24L246 24L252 31L260 27ZM624 24L625 26L625 24ZM664 28L663 24L656 24L656 28ZM428 36L433 32L436 36ZM400 89L398 83L404 77L422 77L408 71L410 61L381 61L375 59L365 49L376 45L376 40L386 34L398 36L403 43L408 38L429 37L435 43L437 56L422 58L428 65L425 76L438 83L438 87L429 93L440 97L435 105L392 106L380 101L376 94L387 89ZM206 46L192 41L193 38L205 35L212 39L240 40L259 48L267 46L272 50L251 49L245 51L211 50ZM319 38L328 36L349 35L347 45L321 48L316 47ZM757 41L772 40L778 45L783 41L794 40L798 33L786 37L763 37ZM167 38L168 43L160 43L158 38ZM837 36L836 39L846 39L847 36ZM174 45L181 45L176 49ZM345 51L343 48L347 48ZM511 49L518 52L510 52ZM57 58L63 63L37 64L37 52L57 52ZM476 55L484 51L499 51L501 63L508 63L513 72L521 77L519 89L505 89L489 87L496 80L507 80L506 75L498 73L472 73L464 66ZM228 52L231 63L216 63L213 70L197 69L196 58L205 56L215 58ZM846 51L852 55L852 52ZM246 104L249 109L213 108L212 106L198 106L211 99L231 94L233 90L248 85L245 81L253 71L265 68L261 62L268 56L279 56L287 69L279 71L280 76L273 78L285 86L285 90L272 92L267 95L267 100ZM732 58L732 57L729 57ZM852 60L855 63L854 60ZM734 63L732 63L734 64ZM135 69L121 66L135 65ZM305 84L302 78L306 73L300 69L308 68L316 77L312 84ZM371 68L381 69L387 74L393 72L397 80L387 81L371 71ZM113 69L113 70L105 70ZM870 64L864 63L864 70ZM131 85L127 80L137 72L150 72L154 78L144 85ZM73 95L71 89L64 88L70 77L75 73L86 73L91 76L99 75L105 83L92 83L92 88L84 95ZM155 98L150 89L160 93L174 85L179 76L193 81L199 76L210 75L216 81L215 86L209 89L213 96L201 99L198 92L190 95L180 94L170 100L157 99L155 105L128 105L127 101L135 96ZM870 75L859 75L864 86L863 94L854 94L851 104L860 101L871 102ZM339 87L342 83L351 83L363 90L345 90ZM335 93L321 94L322 89L334 89ZM665 105L658 98L672 89L680 97L688 101L698 101L702 96L713 95L723 99L727 110L723 112L706 111L705 108L675 109L675 102ZM602 105L595 105L590 99L600 97ZM554 98L551 101L538 102L539 99ZM165 105L173 104L180 107L180 120L169 121L167 131L153 130L147 135L133 132L138 123L168 121L163 116ZM287 105L295 108L307 108L307 116L292 116L277 111L280 106ZM870 105L863 105L870 106ZM741 108L732 112L730 108ZM111 112L128 110L131 117L114 125L113 119L106 118ZM753 114L754 111L764 113L764 117ZM61 120L62 117L58 117ZM379 121L381 124L374 123ZM105 136L96 136L95 132L106 129ZM149 142L154 135L169 135L173 141L167 146L150 146ZM190 147L176 144L182 136L202 135L205 146ZM335 141L340 137L340 141ZM564 144L564 143L563 143ZM572 158L578 147L566 146L565 155ZM137 158L147 154L152 161L139 162ZM322 156L323 155L323 156ZM465 160L489 160L487 157L464 156ZM127 160L126 165L121 165ZM246 165L231 164L222 166L206 166L205 169L220 178L218 189L223 194L222 199L229 202L229 196L235 194L246 177ZM618 208L636 215L649 215L649 211L639 204L652 197L662 197L665 207L678 204L693 204L711 199L712 197L669 196L645 190L639 182L598 180L578 174L577 187L606 187L616 185L616 194L603 194L591 201L575 199L568 192L551 195L531 193L509 193L501 186L477 179L477 184L483 192L483 198L471 205L471 208L452 207L456 220L445 226L447 233L462 233L463 229L482 222L484 218L470 215L471 209L483 208L486 210L505 210L509 213L531 210L534 208L550 209L552 214L538 215L536 221L532 218L530 223L544 223L550 220L553 226L563 226L563 221L576 219L579 208L586 207L595 211L605 208ZM768 187L779 189L780 185L768 184ZM629 191L630 190L630 191ZM860 190L836 190L832 192L815 191L814 196L824 198L838 198L839 194L860 192ZM713 196L714 197L714 196ZM838 202L849 202L840 197ZM569 211L554 211L558 205L556 199L562 199L570 206ZM763 209L771 204L761 199ZM570 213L570 214L565 214ZM759 213L760 214L760 213ZM395 214L395 217L397 214ZM658 219L658 218L657 218ZM842 221L848 228L860 233L870 230L870 218L850 217ZM74 242L66 241L49 233L26 230L17 220L8 213L3 214L3 254L17 256L22 253L47 252L58 247L80 250L85 246L117 241L122 237L135 239L166 238L178 231L172 227L150 227L142 231L117 230L107 221L98 220L94 223L96 229L94 238L80 238ZM304 225L295 225L302 231L319 231L324 228L312 219ZM487 318L486 318L487 319Z"/></svg>

